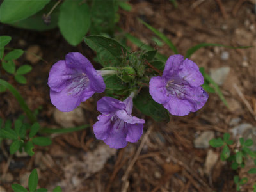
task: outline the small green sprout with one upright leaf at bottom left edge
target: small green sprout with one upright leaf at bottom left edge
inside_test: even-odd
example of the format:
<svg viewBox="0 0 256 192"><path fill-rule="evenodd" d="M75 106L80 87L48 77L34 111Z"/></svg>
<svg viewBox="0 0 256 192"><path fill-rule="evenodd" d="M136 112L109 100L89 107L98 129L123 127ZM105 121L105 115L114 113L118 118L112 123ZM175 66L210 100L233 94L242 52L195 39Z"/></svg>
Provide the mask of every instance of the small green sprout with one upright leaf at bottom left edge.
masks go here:
<svg viewBox="0 0 256 192"><path fill-rule="evenodd" d="M36 189L37 185L38 185L38 174L36 169L33 169L28 179L29 192L47 192L47 189L45 188ZM12 189L14 192L28 192L28 189L24 188L20 184L12 184ZM60 186L57 186L56 188L53 189L52 192L61 192L61 191L62 189L60 188Z"/></svg>

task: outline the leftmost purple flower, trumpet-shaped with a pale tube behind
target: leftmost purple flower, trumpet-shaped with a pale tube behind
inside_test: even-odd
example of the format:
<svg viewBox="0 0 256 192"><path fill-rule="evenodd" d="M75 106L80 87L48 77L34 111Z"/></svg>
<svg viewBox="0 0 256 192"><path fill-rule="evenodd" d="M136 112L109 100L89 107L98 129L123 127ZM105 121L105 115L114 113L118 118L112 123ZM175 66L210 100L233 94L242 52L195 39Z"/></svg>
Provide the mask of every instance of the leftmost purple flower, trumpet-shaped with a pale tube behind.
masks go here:
<svg viewBox="0 0 256 192"><path fill-rule="evenodd" d="M52 104L63 112L72 111L95 92L105 90L100 72L79 52L68 53L65 60L52 66L48 85Z"/></svg>

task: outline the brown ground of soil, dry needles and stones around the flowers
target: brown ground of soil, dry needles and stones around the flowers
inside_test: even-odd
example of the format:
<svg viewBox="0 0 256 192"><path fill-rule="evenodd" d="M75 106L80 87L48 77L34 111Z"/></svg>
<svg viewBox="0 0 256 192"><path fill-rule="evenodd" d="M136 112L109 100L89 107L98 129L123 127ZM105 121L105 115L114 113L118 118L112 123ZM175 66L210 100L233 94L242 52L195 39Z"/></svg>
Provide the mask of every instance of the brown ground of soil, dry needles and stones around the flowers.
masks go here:
<svg viewBox="0 0 256 192"><path fill-rule="evenodd" d="M177 8L167 0L129 2L132 10L119 10L118 25L166 56L173 52L167 45L157 46L152 40L154 34L140 24L138 17L168 36L180 54L202 42L256 46L255 1L180 0ZM3 78L19 90L29 108L42 108L38 115L42 127L91 125L83 131L51 135L52 145L35 148L33 157L26 154L11 156L8 152L10 142L4 140L0 150L1 192L12 191L13 183L28 186L28 176L33 168L38 170L38 185L49 191L57 185L65 192L236 191L234 175L244 177L244 170L252 167L248 163L242 170L232 170L229 163L220 161L221 150L209 147L207 143L224 132L236 132L234 130L239 132L232 134L234 140L239 136L256 138L255 47L209 47L191 57L199 67L205 67L206 72L223 72L217 78L222 79L220 87L230 108L218 95L210 94L204 108L188 116L171 116L168 124L156 123L134 109L134 113L147 120L144 134L138 143L115 150L96 140L92 131L99 115L95 103L102 95L96 94L75 111L65 114L56 110L49 99L47 78L51 66L65 58L68 52L81 52L91 61L95 53L84 43L77 47L68 45L58 29L39 33L0 24L0 35L12 36L8 47L35 52L44 59L36 60L30 54L24 54L16 61L17 66L33 65L33 70L26 75L26 85L15 83L13 77L1 69ZM138 50L131 42L127 45L132 51ZM99 64L93 64L100 68ZM15 120L23 113L10 92L0 95L1 118ZM246 126L250 129L245 129ZM235 143L232 148L235 150L236 147ZM248 183L241 191L252 191L255 176L246 177Z"/></svg>

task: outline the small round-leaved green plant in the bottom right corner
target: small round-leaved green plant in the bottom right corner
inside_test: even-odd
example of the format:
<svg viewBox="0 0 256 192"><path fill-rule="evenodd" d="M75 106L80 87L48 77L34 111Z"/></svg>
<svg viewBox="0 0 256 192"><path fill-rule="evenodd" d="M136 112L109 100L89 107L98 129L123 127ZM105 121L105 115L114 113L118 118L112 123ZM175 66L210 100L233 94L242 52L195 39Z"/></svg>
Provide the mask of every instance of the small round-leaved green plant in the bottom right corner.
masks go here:
<svg viewBox="0 0 256 192"><path fill-rule="evenodd" d="M244 141L244 138L240 138L240 145L236 148L234 148L233 144L234 141L230 140L230 134L227 132L223 135L223 138L216 138L209 141L209 145L211 145L212 147L223 147L220 158L222 161L230 161L231 168L233 170L244 168L245 160L248 159L248 157L253 159L256 166L256 152L252 151L249 148L253 145L252 139L247 139ZM248 173L256 174L256 168L251 168ZM246 182L248 182L247 177L243 177L240 180L238 175L234 176L234 183L236 184L237 191L239 191L240 187L243 184L246 184ZM253 190L255 191L255 184L253 185L253 188Z"/></svg>

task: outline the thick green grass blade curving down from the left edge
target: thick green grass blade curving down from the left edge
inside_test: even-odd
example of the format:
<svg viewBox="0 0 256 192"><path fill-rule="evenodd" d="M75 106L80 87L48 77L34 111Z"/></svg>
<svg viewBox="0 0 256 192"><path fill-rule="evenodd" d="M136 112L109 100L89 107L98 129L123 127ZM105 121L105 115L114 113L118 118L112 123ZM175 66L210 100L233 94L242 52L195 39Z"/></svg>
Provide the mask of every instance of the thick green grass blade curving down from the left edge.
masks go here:
<svg viewBox="0 0 256 192"><path fill-rule="evenodd" d="M32 111L28 108L28 105L26 104L23 97L20 95L20 93L12 86L12 84L8 83L7 81L4 81L3 79L0 79L0 84L3 85L5 88L10 90L12 95L17 99L17 101L20 104L20 107L25 111L26 115L28 116L29 120L31 122L36 121L35 115L33 115Z"/></svg>

